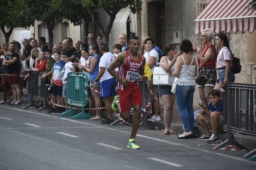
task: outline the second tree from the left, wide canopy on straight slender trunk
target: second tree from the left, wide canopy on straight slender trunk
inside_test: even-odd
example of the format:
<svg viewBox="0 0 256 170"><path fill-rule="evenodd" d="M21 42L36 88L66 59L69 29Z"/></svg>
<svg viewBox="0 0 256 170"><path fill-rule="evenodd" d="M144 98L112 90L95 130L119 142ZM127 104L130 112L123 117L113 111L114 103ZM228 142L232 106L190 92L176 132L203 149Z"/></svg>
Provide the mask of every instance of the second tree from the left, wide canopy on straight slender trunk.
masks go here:
<svg viewBox="0 0 256 170"><path fill-rule="evenodd" d="M88 18L88 12L83 7L73 1L62 0L23 0L26 4L31 4L29 13L34 20L42 21L46 24L49 34L48 48L52 48L53 29L56 23L71 21L74 25L80 25L83 18Z"/></svg>

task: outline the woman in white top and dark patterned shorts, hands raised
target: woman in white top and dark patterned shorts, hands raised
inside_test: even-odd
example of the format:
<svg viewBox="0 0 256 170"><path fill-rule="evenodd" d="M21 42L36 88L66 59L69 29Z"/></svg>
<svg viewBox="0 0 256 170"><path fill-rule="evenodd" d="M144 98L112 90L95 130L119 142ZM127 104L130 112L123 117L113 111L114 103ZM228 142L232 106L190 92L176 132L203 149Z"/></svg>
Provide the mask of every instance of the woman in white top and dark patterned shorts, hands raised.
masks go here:
<svg viewBox="0 0 256 170"><path fill-rule="evenodd" d="M173 117L173 105L175 102L175 94L171 92L172 85L174 83L174 77L172 76L172 72L175 70L175 63L177 57L181 55L181 52L177 54L177 48L173 44L168 44L165 46L165 53L160 60L161 66L165 71L170 72L170 85L158 86L158 94L162 98L164 103L164 125L165 130L162 133L163 135L177 134L174 132L171 127L172 117Z"/></svg>

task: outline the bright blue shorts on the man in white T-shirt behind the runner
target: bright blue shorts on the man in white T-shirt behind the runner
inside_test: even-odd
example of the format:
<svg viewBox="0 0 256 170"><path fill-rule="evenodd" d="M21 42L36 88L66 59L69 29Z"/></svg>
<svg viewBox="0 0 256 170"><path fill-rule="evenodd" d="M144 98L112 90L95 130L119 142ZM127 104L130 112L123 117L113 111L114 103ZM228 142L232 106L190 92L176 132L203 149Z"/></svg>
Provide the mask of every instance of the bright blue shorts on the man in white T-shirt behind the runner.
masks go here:
<svg viewBox="0 0 256 170"><path fill-rule="evenodd" d="M116 80L115 78L104 80L100 86L100 97L115 96Z"/></svg>

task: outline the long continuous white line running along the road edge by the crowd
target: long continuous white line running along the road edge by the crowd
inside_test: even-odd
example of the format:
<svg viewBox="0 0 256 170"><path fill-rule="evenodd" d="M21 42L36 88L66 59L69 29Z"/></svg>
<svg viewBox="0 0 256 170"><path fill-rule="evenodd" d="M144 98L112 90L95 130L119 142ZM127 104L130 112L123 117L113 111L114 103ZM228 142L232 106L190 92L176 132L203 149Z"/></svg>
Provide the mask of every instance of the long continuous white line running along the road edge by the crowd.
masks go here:
<svg viewBox="0 0 256 170"><path fill-rule="evenodd" d="M96 127L102 127L102 128L105 128L105 129L116 131L116 132L122 132L122 133L131 134L131 132L126 132L126 131L123 131L123 130L118 130L118 129L109 128L109 127L100 126L100 125L95 125L95 124L86 123L86 122L80 122L80 121L76 121L76 120L72 120L72 119L52 116L52 115L43 114L43 113L36 113L36 112L26 111L24 109L16 109L16 108L5 107L5 106L0 106L0 107L6 108L6 109L18 110L18 111L21 111L21 112L33 113L33 114L42 115L42 116L48 116L48 117L52 117L52 118L56 118L56 119L62 119L62 120L71 121L71 122L77 122L77 123L91 125L91 126L96 126ZM214 152L214 151L210 151L210 150L206 150L206 149L200 149L198 147L195 148L195 147L192 147L192 146L187 146L187 145L183 145L183 144L180 144L180 143L170 142L170 141L167 141L167 140L152 138L150 136L145 136L145 135L136 134L136 136L147 138L147 139L151 139L151 140L156 140L156 141L160 141L160 142L164 142L164 143L169 143L169 144L176 145L176 146L182 146L182 147L189 148L189 149L199 150L199 151L206 152L206 153L212 153L212 154L215 154L215 155L218 155L218 156L223 156L223 157L234 159L234 160L237 160L237 161L243 161L243 162L247 162L247 163L251 163L251 164L256 164L256 162L249 161L247 159L237 158L235 156L231 156L231 155L227 155L227 154L223 154L223 153L219 153L219 152Z"/></svg>

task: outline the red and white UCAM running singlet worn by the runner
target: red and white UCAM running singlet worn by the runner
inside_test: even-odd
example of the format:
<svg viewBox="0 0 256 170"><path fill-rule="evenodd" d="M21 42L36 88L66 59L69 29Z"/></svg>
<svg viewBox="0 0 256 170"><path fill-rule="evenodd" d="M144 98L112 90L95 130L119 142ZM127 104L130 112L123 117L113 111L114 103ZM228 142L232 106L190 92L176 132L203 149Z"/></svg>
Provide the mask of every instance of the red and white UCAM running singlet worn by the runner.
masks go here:
<svg viewBox="0 0 256 170"><path fill-rule="evenodd" d="M129 51L125 51L126 53L126 62L123 66L118 67L119 70L119 76L122 79L126 79L127 76L127 72L135 72L135 73L139 73L140 68L142 67L142 57L140 54L138 54L138 61L134 61L131 56ZM133 76L133 75L132 75ZM136 75L135 75L136 76ZM134 82L129 82L128 86L123 86L123 84L118 81L117 84L117 88L120 90L132 90L132 89L136 89L139 87L138 81L134 81Z"/></svg>

